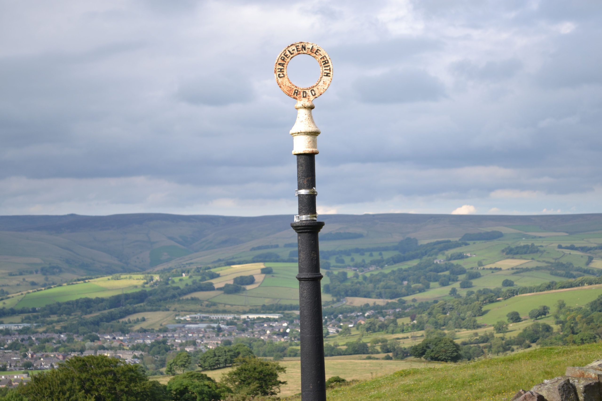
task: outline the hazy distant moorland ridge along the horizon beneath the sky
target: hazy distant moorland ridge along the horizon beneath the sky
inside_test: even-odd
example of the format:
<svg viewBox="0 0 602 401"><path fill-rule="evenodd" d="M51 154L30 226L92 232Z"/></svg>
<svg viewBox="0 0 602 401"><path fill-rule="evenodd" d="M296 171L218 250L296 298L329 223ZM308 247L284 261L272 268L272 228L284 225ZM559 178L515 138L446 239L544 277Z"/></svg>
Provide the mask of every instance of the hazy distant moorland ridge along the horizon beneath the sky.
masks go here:
<svg viewBox="0 0 602 401"><path fill-rule="evenodd" d="M328 246L368 246L458 239L465 233L575 234L602 231L602 213L583 215L322 215ZM58 266L73 277L212 263L251 248L296 241L292 216L209 216L139 213L111 216L0 216L0 275ZM343 234L341 234L343 233ZM326 238L324 238L326 239ZM294 246L294 245L293 245Z"/></svg>

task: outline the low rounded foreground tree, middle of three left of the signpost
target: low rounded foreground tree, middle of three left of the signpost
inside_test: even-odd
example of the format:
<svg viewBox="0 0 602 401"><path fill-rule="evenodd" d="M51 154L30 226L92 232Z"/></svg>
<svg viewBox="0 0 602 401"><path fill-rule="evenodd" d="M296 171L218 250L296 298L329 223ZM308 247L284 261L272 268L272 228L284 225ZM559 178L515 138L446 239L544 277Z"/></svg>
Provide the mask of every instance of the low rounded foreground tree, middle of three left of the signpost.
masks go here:
<svg viewBox="0 0 602 401"><path fill-rule="evenodd" d="M229 389L219 385L204 373L186 372L167 382L167 391L173 400L211 401L220 400Z"/></svg>

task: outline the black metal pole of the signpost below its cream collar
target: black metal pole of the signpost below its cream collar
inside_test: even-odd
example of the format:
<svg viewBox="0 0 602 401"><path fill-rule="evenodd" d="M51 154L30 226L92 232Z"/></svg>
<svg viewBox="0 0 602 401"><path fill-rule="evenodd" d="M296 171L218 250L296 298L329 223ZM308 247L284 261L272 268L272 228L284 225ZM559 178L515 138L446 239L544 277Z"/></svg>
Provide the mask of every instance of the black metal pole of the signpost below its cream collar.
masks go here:
<svg viewBox="0 0 602 401"><path fill-rule="evenodd" d="M315 188L315 155L297 155L297 189ZM314 217L315 193L299 191L300 221L291 223L299 247L299 310L301 320L301 399L326 401L324 337L318 232L324 222Z"/></svg>

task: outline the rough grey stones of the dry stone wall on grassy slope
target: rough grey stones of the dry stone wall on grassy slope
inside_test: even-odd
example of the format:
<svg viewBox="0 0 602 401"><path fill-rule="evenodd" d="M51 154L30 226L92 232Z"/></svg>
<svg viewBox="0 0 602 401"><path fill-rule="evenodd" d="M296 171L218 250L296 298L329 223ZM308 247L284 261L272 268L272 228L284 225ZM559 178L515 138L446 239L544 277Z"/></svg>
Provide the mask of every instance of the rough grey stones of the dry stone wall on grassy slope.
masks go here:
<svg viewBox="0 0 602 401"><path fill-rule="evenodd" d="M519 390L510 401L602 401L602 360L567 367L564 376Z"/></svg>

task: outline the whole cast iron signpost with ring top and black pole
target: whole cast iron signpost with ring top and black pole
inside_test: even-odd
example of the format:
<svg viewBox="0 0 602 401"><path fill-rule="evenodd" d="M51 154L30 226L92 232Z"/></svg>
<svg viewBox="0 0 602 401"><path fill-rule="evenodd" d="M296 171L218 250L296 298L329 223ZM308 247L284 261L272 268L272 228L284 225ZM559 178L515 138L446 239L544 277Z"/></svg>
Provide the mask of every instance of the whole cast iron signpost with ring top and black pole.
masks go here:
<svg viewBox="0 0 602 401"><path fill-rule="evenodd" d="M293 57L308 54L320 64L320 78L307 88L296 87L287 75ZM301 319L301 398L303 401L326 400L324 382L324 338L322 334L322 296L320 288L320 250L318 232L324 223L317 221L315 210L315 155L320 130L315 126L312 101L326 91L332 81L332 63L324 49L314 43L297 42L284 48L274 66L278 86L297 100L297 121L293 135L293 155L297 156L297 190L299 214L291 223L299 246L299 309Z"/></svg>

